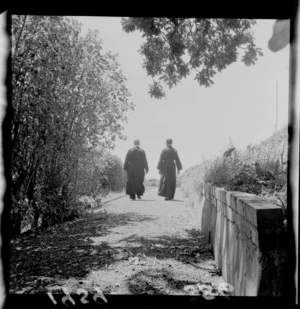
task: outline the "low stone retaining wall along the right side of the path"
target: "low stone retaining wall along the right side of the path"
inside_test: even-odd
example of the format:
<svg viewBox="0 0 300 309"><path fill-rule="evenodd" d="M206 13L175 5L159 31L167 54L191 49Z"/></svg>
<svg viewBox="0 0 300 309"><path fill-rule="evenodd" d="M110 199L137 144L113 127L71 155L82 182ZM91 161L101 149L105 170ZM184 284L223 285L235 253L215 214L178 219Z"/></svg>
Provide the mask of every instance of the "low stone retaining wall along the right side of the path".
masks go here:
<svg viewBox="0 0 300 309"><path fill-rule="evenodd" d="M232 295L282 296L286 266L281 208L209 184L192 200L222 276L234 287Z"/></svg>

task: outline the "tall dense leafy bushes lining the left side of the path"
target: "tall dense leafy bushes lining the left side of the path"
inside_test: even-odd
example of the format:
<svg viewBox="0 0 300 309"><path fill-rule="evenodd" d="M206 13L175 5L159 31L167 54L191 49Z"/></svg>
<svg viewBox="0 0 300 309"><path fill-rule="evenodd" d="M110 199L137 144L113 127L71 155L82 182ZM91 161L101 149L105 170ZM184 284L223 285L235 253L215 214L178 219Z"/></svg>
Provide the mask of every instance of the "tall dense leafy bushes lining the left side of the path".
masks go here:
<svg viewBox="0 0 300 309"><path fill-rule="evenodd" d="M61 221L134 105L116 55L73 18L14 15L11 48L12 212Z"/></svg>

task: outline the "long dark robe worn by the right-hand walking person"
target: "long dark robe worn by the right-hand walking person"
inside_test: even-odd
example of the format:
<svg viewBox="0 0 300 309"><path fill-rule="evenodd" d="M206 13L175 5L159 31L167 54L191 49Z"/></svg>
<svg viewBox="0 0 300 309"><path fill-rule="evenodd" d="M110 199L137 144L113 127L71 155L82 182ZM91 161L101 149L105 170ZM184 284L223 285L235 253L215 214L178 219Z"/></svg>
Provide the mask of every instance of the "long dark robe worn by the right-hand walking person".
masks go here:
<svg viewBox="0 0 300 309"><path fill-rule="evenodd" d="M182 169L177 150L172 146L168 146L163 149L157 165L157 169L161 174L158 195L168 199L174 198L176 190L176 167L179 171Z"/></svg>

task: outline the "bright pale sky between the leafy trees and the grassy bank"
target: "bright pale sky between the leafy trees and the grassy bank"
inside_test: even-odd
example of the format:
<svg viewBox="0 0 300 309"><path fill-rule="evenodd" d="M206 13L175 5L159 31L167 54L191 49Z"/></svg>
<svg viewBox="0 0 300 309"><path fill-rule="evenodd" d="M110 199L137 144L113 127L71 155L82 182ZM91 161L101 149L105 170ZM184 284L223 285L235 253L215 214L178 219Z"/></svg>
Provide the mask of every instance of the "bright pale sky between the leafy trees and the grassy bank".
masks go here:
<svg viewBox="0 0 300 309"><path fill-rule="evenodd" d="M244 149L269 137L276 125L288 123L289 47L273 53L268 49L274 20L257 20L253 28L264 56L254 66L236 62L214 77L214 85L200 87L188 77L167 91L166 98L151 99L152 82L142 68L139 32L125 33L119 17L77 17L84 29L98 29L105 51L118 53L127 87L136 108L128 113L126 141L117 141L114 154L124 160L133 140L139 138L147 154L148 178L158 177L156 166L165 140L171 137L183 168L199 164L234 145Z"/></svg>

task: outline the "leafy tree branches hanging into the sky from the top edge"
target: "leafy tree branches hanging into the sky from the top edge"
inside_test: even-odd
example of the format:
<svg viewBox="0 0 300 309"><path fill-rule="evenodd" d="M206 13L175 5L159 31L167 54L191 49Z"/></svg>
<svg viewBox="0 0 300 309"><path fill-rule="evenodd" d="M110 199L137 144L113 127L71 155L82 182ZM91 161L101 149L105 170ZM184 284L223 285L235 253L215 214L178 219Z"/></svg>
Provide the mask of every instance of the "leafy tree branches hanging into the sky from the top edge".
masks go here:
<svg viewBox="0 0 300 309"><path fill-rule="evenodd" d="M139 30L146 39L139 51L153 78L149 94L154 98L165 96L162 83L170 89L192 71L199 85L211 86L217 72L238 60L239 51L247 66L263 55L250 32L254 20L134 17L121 23L125 32Z"/></svg>

